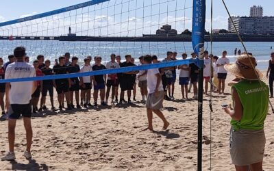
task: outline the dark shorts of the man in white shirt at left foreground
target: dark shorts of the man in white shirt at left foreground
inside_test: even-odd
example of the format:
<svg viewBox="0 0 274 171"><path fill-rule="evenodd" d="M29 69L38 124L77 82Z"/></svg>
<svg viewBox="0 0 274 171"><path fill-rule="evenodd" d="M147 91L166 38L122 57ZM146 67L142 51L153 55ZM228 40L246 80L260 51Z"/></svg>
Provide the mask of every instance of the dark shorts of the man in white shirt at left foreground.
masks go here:
<svg viewBox="0 0 274 171"><path fill-rule="evenodd" d="M26 105L10 105L10 108L8 109L8 118L18 119L21 115L25 118L30 118L32 116L32 105L30 103Z"/></svg>

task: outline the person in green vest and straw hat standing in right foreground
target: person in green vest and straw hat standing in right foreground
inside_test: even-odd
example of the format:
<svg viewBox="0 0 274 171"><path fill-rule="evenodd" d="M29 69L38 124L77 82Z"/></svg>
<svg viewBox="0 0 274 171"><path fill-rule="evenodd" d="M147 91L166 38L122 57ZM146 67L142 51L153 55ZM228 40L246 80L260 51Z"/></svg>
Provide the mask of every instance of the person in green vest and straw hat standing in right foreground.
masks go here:
<svg viewBox="0 0 274 171"><path fill-rule="evenodd" d="M256 69L251 53L240 55L235 64L225 64L225 70L236 76L232 86L233 109L224 105L232 118L230 155L236 170L262 170L264 120L269 111L269 88L261 81L263 75Z"/></svg>

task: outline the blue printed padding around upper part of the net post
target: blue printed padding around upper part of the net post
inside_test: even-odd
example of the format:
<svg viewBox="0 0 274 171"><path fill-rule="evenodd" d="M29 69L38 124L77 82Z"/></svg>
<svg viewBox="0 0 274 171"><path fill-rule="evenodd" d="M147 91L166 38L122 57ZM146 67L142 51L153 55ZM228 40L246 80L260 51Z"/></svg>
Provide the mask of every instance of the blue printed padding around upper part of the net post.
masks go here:
<svg viewBox="0 0 274 171"><path fill-rule="evenodd" d="M192 47L199 57L203 58L204 38L206 23L206 0L193 0L192 14ZM199 61L199 67L203 67L203 62Z"/></svg>

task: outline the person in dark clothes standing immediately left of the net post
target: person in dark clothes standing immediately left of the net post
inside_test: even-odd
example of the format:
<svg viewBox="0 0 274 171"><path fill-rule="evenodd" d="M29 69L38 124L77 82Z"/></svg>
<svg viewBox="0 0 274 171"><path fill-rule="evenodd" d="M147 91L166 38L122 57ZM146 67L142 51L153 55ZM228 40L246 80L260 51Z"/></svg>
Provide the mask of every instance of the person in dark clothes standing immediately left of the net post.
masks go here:
<svg viewBox="0 0 274 171"><path fill-rule="evenodd" d="M196 54L193 52L191 53L191 57L193 60L196 59ZM198 98L198 86L197 86L197 82L198 82L198 76L199 76L199 67L192 63L189 64L189 70L190 70L190 88L189 90L191 90L191 85L193 85L193 98L197 99Z"/></svg>

